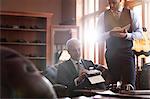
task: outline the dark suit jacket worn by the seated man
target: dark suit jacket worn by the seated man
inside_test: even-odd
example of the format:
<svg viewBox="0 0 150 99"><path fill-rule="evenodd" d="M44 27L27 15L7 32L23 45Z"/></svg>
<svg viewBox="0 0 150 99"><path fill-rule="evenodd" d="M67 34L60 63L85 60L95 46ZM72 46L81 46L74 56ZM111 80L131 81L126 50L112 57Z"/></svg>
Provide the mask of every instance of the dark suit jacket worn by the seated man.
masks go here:
<svg viewBox="0 0 150 99"><path fill-rule="evenodd" d="M89 69L90 66L96 69L96 66L93 64L92 61L81 60L81 62L85 69ZM78 73L71 60L67 60L58 66L57 83L66 85L69 90L91 87L91 84L88 79L85 79L85 81L81 83L79 86L75 86L74 79L77 77Z"/></svg>

